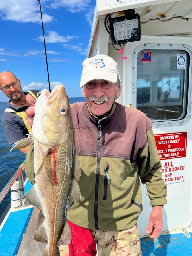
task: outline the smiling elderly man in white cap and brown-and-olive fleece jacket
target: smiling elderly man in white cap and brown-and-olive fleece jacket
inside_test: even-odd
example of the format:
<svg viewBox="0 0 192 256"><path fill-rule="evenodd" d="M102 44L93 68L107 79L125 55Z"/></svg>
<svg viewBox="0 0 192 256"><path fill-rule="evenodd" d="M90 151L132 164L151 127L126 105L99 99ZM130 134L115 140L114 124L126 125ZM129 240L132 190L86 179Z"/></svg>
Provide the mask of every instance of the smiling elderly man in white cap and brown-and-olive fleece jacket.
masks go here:
<svg viewBox="0 0 192 256"><path fill-rule="evenodd" d="M91 231L99 255L142 255L137 228L143 209L139 177L152 205L146 228L151 238L162 230L162 206L166 204L152 123L139 110L115 102L121 81L112 58L86 59L80 87L86 103L72 104L71 113L81 165L81 199L68 210L67 219ZM80 243L81 234L75 246ZM94 254L84 251L79 255Z"/></svg>

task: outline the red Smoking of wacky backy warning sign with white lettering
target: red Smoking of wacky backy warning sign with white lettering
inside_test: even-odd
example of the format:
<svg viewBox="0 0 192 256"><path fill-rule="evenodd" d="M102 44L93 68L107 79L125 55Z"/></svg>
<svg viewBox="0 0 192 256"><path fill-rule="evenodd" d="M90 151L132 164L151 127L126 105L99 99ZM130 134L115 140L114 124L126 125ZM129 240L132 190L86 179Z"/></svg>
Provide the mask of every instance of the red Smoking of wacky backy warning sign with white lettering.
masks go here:
<svg viewBox="0 0 192 256"><path fill-rule="evenodd" d="M186 156L187 132L163 133L154 136L160 159Z"/></svg>

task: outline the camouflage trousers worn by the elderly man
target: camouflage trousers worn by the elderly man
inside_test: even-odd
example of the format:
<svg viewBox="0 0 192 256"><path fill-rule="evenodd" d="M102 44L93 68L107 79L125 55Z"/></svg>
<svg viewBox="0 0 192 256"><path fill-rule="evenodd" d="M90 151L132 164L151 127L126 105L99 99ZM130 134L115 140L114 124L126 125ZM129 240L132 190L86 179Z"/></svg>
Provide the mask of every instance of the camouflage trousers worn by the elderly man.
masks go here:
<svg viewBox="0 0 192 256"><path fill-rule="evenodd" d="M137 224L120 231L92 230L99 256L142 256Z"/></svg>

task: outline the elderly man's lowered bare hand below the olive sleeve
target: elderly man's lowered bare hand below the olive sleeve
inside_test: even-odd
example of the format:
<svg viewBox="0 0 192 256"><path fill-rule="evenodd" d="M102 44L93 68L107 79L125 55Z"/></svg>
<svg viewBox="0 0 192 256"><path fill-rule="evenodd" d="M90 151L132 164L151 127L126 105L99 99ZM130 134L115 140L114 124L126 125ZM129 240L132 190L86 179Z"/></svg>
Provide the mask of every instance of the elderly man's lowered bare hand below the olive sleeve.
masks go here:
<svg viewBox="0 0 192 256"><path fill-rule="evenodd" d="M150 238L158 238L163 228L162 206L154 206L149 217L148 227L145 229Z"/></svg>

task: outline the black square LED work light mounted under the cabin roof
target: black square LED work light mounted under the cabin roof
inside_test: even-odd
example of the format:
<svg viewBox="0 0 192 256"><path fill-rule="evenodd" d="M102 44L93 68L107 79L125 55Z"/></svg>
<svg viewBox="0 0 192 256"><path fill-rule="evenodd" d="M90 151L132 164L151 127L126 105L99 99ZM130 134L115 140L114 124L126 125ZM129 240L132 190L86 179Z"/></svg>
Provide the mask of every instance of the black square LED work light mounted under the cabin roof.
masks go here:
<svg viewBox="0 0 192 256"><path fill-rule="evenodd" d="M126 10L125 16L109 18L110 35L113 44L139 41L141 38L140 17L135 10Z"/></svg>

